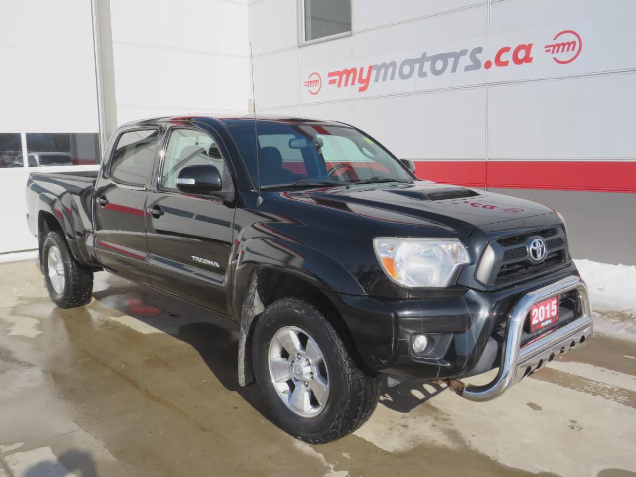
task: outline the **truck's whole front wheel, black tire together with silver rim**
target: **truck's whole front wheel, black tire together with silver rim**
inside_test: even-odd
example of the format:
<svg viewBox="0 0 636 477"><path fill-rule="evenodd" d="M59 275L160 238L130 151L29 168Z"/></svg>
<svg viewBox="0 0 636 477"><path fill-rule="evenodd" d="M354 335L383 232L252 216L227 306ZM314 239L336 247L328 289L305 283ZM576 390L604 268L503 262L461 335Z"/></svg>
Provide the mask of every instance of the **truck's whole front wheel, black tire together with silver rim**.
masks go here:
<svg viewBox="0 0 636 477"><path fill-rule="evenodd" d="M378 373L356 365L326 315L309 301L281 298L254 330L254 370L277 425L321 444L354 432L380 397Z"/></svg>

